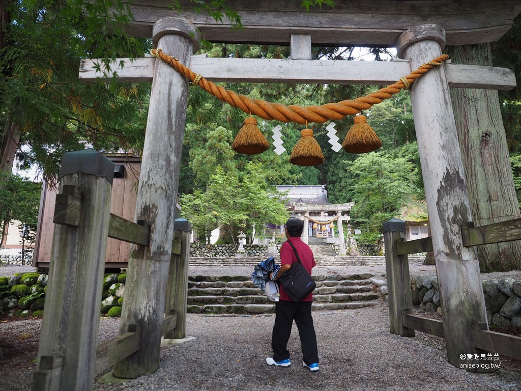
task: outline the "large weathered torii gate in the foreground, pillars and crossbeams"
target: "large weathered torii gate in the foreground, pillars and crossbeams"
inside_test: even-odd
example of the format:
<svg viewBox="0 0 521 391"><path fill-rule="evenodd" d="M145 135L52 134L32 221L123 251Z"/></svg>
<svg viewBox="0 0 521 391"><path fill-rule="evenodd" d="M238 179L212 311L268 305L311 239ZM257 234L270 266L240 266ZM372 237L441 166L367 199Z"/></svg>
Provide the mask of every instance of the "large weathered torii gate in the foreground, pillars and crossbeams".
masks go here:
<svg viewBox="0 0 521 391"><path fill-rule="evenodd" d="M334 9L309 12L298 2L230 0L227 4L238 11L243 25L231 30L226 22L189 10L190 2L181 3L180 14L163 1L132 2L135 21L127 31L153 38L156 47L206 79L227 82L390 84L441 55L445 45L499 39L521 11L515 0L342 1ZM211 42L289 44L291 59L192 56L200 34ZM350 44L396 46L402 60L311 60L312 45ZM82 62L82 80L103 76L95 72L94 62ZM126 60L118 74L121 81L152 81L135 214L151 226L150 246L131 249L120 327L124 333L129 324L137 325L141 344L114 367L114 375L135 378L158 368L188 81L153 57ZM486 323L486 311L476 253L463 247L460 235L460 224L472 216L450 87L511 89L515 78L508 69L445 64L411 88L448 360L459 366L460 355L479 353L470 331L472 324Z"/></svg>

